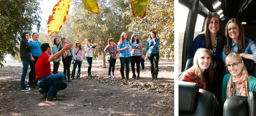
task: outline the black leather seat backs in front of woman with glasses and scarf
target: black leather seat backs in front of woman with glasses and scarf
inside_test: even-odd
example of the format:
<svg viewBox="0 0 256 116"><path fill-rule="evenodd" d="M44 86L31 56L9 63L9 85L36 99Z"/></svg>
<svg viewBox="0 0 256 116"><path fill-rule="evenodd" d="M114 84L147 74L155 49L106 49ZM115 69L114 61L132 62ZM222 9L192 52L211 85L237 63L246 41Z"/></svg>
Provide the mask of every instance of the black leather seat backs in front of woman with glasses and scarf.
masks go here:
<svg viewBox="0 0 256 116"><path fill-rule="evenodd" d="M223 107L223 116L255 116L256 92L248 92L248 97L232 96Z"/></svg>

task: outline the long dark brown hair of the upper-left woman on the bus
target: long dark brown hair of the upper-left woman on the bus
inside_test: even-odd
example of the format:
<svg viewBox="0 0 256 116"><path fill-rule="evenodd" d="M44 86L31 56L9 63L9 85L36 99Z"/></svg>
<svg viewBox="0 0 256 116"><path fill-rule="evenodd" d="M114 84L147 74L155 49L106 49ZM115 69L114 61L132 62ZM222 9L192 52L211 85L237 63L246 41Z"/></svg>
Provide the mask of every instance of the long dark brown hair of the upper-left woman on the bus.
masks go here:
<svg viewBox="0 0 256 116"><path fill-rule="evenodd" d="M210 13L206 20L205 20L205 25L204 25L204 31L199 33L204 35L205 39L202 39L202 44L205 48L207 49L212 49L212 41L211 41L211 37L210 37L210 30L209 30L209 25L210 25L210 21L212 19L212 17L218 17L219 19L219 31L217 32L217 42L218 42L218 47L217 49L222 49L223 46L225 45L225 40L223 38L223 30L222 30L222 21L221 18L219 17L218 13Z"/></svg>

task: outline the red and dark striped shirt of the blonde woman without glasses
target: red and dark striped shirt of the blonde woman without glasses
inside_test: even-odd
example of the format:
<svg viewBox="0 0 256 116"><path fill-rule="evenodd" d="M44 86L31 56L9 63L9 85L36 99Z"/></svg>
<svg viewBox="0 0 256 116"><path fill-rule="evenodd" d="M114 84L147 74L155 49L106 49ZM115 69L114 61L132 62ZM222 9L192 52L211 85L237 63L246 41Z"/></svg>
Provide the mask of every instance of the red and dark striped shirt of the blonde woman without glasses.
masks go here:
<svg viewBox="0 0 256 116"><path fill-rule="evenodd" d="M188 71L185 71L183 72L180 76L179 76L179 80L180 81L185 81L185 82L193 82L193 83L198 83L199 84L199 88L200 89L203 89L203 84L201 84L197 78L196 78L196 75L195 75L195 72L188 72ZM207 81L203 75L203 81L205 83L205 90L210 90L208 88L208 84L207 84Z"/></svg>

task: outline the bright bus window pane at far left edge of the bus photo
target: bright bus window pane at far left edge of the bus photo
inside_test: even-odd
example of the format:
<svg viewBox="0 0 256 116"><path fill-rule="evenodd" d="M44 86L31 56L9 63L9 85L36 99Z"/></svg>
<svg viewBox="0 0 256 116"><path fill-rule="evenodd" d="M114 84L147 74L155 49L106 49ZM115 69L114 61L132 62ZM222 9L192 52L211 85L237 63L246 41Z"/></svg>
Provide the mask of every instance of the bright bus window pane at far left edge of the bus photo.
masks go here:
<svg viewBox="0 0 256 116"><path fill-rule="evenodd" d="M189 9L180 4L178 5L178 19L179 19L179 59L182 59L182 50L183 50L183 40L184 40L184 33L186 29L187 17ZM179 73L181 73L181 63L182 60L179 60Z"/></svg>

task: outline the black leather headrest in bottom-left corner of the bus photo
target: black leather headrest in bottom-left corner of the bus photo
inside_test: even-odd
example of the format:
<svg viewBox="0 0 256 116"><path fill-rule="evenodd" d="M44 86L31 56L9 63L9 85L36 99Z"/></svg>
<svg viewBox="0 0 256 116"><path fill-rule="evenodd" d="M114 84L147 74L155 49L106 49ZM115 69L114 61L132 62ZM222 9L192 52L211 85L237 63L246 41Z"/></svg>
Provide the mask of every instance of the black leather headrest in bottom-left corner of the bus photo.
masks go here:
<svg viewBox="0 0 256 116"><path fill-rule="evenodd" d="M179 112L194 113L198 101L199 85L179 81Z"/></svg>

